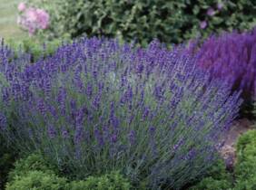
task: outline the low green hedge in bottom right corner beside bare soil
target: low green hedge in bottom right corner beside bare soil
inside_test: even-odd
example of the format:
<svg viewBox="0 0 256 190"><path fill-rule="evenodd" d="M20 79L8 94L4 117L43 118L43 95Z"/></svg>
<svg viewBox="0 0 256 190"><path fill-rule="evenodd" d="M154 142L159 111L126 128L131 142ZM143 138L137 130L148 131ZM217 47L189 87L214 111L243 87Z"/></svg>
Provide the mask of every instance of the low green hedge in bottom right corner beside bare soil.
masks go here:
<svg viewBox="0 0 256 190"><path fill-rule="evenodd" d="M234 174L229 174L223 167L210 171L192 190L254 190L256 188L256 130L250 130L242 135L236 146L237 161ZM231 177L232 176L232 177Z"/></svg>

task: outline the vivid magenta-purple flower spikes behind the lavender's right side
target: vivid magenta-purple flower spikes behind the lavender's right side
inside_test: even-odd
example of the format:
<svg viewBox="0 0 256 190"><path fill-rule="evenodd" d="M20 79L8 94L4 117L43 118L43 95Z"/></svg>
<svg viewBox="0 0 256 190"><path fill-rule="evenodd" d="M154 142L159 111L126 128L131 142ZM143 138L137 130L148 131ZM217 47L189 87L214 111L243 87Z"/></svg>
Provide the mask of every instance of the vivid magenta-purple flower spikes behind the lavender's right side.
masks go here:
<svg viewBox="0 0 256 190"><path fill-rule="evenodd" d="M256 96L256 29L250 33L223 33L207 39L198 64L213 78L228 81L236 90Z"/></svg>

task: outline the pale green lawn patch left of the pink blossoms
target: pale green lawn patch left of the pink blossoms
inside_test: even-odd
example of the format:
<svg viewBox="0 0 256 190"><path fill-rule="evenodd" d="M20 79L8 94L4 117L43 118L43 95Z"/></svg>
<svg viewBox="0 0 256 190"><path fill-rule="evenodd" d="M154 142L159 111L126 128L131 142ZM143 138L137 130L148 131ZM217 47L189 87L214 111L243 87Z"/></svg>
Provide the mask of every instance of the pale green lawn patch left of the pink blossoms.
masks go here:
<svg viewBox="0 0 256 190"><path fill-rule="evenodd" d="M16 24L17 5L21 0L0 0L0 38L21 40L27 36Z"/></svg>

